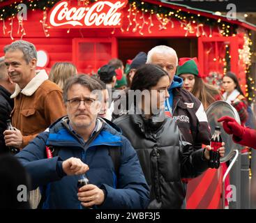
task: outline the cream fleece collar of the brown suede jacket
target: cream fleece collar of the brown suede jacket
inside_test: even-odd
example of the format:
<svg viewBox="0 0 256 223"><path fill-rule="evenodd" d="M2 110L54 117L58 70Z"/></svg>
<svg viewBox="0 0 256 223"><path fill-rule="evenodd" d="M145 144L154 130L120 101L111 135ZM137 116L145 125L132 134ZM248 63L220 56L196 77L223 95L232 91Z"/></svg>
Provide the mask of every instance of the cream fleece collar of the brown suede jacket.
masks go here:
<svg viewBox="0 0 256 223"><path fill-rule="evenodd" d="M14 91L13 95L10 96L10 98L17 97L17 95L19 95L19 93L22 93L26 96L33 95L33 93L35 93L37 91L39 86L41 84L43 84L43 82L45 82L47 79L48 79L48 75L45 72L45 70L38 70L38 72L36 73L36 76L33 77L33 79L31 79L29 84L27 84L24 87L24 89L20 89L20 86L16 84L15 91Z"/></svg>

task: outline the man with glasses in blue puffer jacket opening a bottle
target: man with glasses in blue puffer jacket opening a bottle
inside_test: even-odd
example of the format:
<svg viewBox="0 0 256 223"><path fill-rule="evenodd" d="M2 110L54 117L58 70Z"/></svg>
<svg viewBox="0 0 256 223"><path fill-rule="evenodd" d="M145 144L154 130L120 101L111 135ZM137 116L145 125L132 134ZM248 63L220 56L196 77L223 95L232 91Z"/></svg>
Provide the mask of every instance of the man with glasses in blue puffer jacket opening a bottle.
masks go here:
<svg viewBox="0 0 256 223"><path fill-rule="evenodd" d="M148 205L149 187L130 141L114 124L113 128L97 118L102 90L89 76L70 77L63 89L68 116L17 154L31 176L32 187L44 185L42 208ZM119 153L117 160L111 155L113 151ZM90 183L77 193L77 180L84 173Z"/></svg>

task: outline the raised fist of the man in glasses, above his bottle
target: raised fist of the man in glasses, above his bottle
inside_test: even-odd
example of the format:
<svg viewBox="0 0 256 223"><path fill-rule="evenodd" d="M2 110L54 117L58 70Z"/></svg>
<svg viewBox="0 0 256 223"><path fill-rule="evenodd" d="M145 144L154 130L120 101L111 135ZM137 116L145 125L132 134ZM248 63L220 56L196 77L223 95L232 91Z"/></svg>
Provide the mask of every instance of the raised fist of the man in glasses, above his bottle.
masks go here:
<svg viewBox="0 0 256 223"><path fill-rule="evenodd" d="M88 165L75 157L70 157L68 160L63 161L62 168L68 176L84 174L89 170Z"/></svg>

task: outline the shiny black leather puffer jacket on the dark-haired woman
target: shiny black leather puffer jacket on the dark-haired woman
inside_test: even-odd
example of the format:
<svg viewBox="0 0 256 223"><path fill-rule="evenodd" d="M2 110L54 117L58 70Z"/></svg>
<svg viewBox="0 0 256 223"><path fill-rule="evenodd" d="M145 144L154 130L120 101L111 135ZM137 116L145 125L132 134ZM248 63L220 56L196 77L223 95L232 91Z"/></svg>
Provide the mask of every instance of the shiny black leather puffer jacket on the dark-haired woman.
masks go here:
<svg viewBox="0 0 256 223"><path fill-rule="evenodd" d="M140 115L124 115L114 123L121 128L140 160L151 194L148 208L181 208L186 188L181 178L195 178L208 168L203 150L182 141L172 118L152 132Z"/></svg>

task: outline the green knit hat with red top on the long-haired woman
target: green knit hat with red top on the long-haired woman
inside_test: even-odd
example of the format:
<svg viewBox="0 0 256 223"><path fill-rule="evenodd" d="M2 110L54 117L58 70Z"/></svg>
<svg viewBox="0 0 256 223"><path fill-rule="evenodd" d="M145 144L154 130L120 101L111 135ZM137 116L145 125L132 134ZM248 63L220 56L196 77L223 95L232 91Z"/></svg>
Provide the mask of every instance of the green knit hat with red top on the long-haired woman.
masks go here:
<svg viewBox="0 0 256 223"><path fill-rule="evenodd" d="M176 75L182 75L182 74L192 74L195 76L199 75L197 63L193 60L182 60L182 58L179 61L179 66L176 70Z"/></svg>

